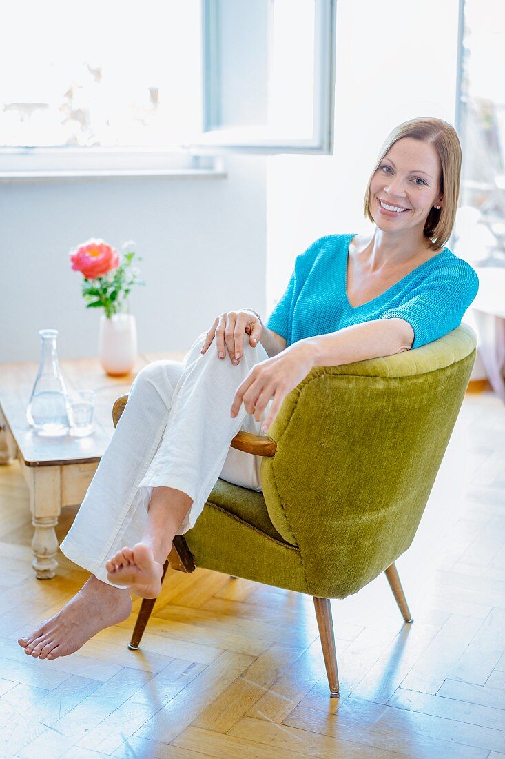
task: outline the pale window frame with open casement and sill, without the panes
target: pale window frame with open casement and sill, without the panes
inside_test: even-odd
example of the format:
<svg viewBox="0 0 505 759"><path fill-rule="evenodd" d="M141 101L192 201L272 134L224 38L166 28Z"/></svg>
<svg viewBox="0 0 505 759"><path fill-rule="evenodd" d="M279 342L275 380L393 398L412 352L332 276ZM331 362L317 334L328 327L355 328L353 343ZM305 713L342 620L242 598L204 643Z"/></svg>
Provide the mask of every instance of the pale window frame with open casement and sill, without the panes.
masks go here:
<svg viewBox="0 0 505 759"><path fill-rule="evenodd" d="M194 142L164 148L0 147L0 181L108 177L225 177L226 153L312 153L334 150L335 38L337 0L315 2L314 133L312 139L271 139L265 130L212 130L217 108L210 93L209 45L215 44L214 0L202 0L202 134ZM212 35L214 34L214 42Z"/></svg>

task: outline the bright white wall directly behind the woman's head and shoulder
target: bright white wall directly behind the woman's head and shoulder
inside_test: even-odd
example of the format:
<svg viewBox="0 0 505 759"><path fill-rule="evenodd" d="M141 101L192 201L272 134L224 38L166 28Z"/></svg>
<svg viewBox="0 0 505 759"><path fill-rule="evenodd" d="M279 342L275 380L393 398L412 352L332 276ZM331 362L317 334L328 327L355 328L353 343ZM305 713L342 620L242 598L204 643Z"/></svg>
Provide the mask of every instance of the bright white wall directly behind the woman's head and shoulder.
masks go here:
<svg viewBox="0 0 505 759"><path fill-rule="evenodd" d="M268 159L268 313L312 241L372 228L363 194L391 129L416 116L453 123L457 33L457 0L337 0L334 155Z"/></svg>

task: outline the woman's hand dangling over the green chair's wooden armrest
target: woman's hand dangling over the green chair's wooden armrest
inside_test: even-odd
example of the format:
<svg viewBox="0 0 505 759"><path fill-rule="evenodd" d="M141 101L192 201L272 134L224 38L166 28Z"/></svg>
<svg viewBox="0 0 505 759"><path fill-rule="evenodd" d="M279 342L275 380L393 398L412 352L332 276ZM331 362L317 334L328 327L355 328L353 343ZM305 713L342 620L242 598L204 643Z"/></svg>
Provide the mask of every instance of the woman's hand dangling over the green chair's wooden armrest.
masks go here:
<svg viewBox="0 0 505 759"><path fill-rule="evenodd" d="M231 416L237 416L243 402L248 414L252 414L259 422L268 401L273 397L274 402L261 429L264 431L270 427L286 395L306 378L315 365L312 355L311 345L300 340L281 353L255 364L237 388L231 405Z"/></svg>

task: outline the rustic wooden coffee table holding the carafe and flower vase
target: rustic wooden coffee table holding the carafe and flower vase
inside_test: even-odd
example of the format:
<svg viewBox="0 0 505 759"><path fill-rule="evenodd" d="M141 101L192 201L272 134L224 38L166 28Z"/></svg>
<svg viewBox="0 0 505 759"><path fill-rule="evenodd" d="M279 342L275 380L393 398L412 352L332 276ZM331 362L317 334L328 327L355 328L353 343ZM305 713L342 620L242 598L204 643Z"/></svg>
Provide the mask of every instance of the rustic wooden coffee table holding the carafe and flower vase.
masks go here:
<svg viewBox="0 0 505 759"><path fill-rule="evenodd" d="M0 364L0 464L17 458L30 489L33 568L39 580L55 576L58 540L55 527L64 506L80 505L114 432L112 406L130 389L136 374L151 361L182 361L187 351L141 355L132 373L110 377L96 358L60 360L67 388L96 391L94 431L86 437L39 436L26 409L39 368L37 361Z"/></svg>

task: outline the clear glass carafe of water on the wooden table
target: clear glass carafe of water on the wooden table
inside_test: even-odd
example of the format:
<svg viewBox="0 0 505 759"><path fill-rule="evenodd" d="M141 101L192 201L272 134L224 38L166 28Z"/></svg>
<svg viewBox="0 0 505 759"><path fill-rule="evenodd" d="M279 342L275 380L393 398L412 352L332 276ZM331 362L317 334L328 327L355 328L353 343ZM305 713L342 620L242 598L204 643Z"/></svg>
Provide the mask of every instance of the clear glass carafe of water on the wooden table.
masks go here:
<svg viewBox="0 0 505 759"><path fill-rule="evenodd" d="M42 339L39 372L33 385L27 420L39 435L66 435L69 399L56 351L58 329L39 329Z"/></svg>

